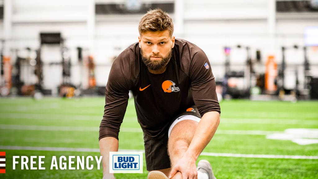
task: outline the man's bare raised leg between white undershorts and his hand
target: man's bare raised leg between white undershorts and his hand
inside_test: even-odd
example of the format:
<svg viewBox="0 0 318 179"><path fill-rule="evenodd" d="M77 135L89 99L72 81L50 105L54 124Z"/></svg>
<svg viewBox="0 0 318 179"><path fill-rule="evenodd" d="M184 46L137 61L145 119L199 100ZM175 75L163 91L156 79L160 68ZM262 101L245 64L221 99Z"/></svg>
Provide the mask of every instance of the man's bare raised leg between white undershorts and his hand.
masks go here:
<svg viewBox="0 0 318 179"><path fill-rule="evenodd" d="M168 140L168 152L170 156L171 167L173 167L187 151L197 129L197 125L197 121L182 120L172 128ZM182 175L180 172L177 172L173 177L173 179L181 178Z"/></svg>

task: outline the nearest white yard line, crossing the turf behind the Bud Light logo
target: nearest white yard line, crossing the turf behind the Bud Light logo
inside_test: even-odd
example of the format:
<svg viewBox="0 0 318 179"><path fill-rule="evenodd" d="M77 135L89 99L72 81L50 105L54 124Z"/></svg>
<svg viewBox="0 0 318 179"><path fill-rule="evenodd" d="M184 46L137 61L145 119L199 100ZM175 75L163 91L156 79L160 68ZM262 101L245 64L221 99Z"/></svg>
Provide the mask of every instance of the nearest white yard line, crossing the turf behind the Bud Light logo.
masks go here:
<svg viewBox="0 0 318 179"><path fill-rule="evenodd" d="M67 147L28 147L28 146L0 146L3 150L34 150L34 151L65 151L65 152L100 152L98 148L67 148ZM119 150L122 152L144 152L144 150ZM215 157L241 157L241 158L268 158L268 159L311 159L317 160L318 156L310 155L268 155L268 154L230 154L202 152L202 156Z"/></svg>

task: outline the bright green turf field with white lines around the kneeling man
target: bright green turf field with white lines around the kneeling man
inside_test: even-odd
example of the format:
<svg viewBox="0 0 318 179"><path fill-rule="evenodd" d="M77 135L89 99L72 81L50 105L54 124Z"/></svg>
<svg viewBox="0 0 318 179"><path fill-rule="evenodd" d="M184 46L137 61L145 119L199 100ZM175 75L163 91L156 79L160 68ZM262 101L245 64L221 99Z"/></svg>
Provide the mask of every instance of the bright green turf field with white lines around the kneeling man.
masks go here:
<svg viewBox="0 0 318 179"><path fill-rule="evenodd" d="M199 158L211 162L218 179L318 178L317 101L231 100L220 105L221 123ZM104 97L0 98L0 152L6 152L6 173L0 178L102 178L96 166L51 170L50 165L52 156L99 155L103 110ZM267 139L275 135L286 140ZM133 100L121 127L119 148L143 150ZM20 165L13 170L12 156L24 155L45 156L45 170L21 170ZM145 179L145 161L143 171L115 176Z"/></svg>

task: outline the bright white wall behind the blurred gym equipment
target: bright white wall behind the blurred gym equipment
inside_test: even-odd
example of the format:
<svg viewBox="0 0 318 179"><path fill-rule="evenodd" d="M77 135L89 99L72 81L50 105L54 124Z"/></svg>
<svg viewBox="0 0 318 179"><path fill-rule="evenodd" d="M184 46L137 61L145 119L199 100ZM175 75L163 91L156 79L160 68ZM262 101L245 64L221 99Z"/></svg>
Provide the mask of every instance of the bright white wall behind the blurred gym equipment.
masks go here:
<svg viewBox="0 0 318 179"><path fill-rule="evenodd" d="M273 1L273 0L270 0ZM209 57L213 73L218 80L224 75L225 55L223 47L232 47L231 62L245 63L245 46L251 48L252 59L256 50L261 50L262 64L267 56L274 55L281 62L281 46L304 45L304 30L308 26L318 26L316 18L304 15L286 18L271 13L268 0L176 0L177 12L174 19L175 35L187 39L201 47ZM71 81L75 85L87 87L87 67L77 61L76 47L88 49L87 54L94 56L95 76L98 86L105 86L112 60L122 50L137 41L140 15L95 16L94 3L90 0L12 0L11 49L38 49L40 32L61 32L66 39L72 60ZM271 24L271 18L276 22ZM318 17L318 16L317 16ZM0 22L0 34L3 34ZM271 34L271 33L274 34ZM243 46L237 49L236 46ZM50 51L50 50L48 50ZM42 53L46 64L44 74L45 88L55 89L61 82L61 67L48 66L52 61L60 61L59 49L54 55ZM309 47L308 58L318 64L318 50ZM12 57L14 54L12 54ZM52 59L52 57L55 58ZM288 49L287 63L303 63L303 51ZM14 62L14 59L12 59ZM258 68L264 72L265 68ZM56 73L56 75L51 75Z"/></svg>

